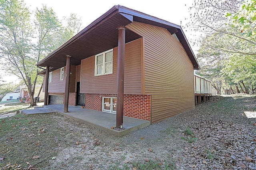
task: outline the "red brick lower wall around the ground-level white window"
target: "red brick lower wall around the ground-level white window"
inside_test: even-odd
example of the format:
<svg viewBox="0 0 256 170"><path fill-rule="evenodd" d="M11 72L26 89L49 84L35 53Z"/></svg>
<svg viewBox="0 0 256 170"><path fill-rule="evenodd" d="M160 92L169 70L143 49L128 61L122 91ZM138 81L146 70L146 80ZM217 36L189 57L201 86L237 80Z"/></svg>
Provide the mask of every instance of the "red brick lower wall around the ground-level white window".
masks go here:
<svg viewBox="0 0 256 170"><path fill-rule="evenodd" d="M86 94L85 107L102 111L102 97L116 97L113 94ZM124 95L124 116L150 121L151 95Z"/></svg>

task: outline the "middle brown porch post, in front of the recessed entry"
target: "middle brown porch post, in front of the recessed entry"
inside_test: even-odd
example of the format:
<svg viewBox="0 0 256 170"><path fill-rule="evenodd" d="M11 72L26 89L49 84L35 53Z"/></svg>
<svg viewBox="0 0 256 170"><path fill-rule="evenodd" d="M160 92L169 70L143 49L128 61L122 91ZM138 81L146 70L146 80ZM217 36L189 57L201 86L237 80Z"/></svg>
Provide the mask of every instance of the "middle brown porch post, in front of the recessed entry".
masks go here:
<svg viewBox="0 0 256 170"><path fill-rule="evenodd" d="M66 83L65 83L64 111L63 111L64 113L68 112L70 67L71 67L71 56L67 55L67 61L66 61Z"/></svg>

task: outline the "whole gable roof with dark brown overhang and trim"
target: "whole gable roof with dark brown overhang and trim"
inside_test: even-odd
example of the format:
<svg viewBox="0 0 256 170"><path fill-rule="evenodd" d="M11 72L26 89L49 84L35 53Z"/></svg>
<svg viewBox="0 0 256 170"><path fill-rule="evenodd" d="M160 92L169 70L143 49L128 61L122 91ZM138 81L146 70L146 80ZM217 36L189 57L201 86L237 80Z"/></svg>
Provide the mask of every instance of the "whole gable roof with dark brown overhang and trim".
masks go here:
<svg viewBox="0 0 256 170"><path fill-rule="evenodd" d="M192 61L194 69L200 69L196 57L180 26L120 5L113 6L105 14L39 61L36 65L39 67L50 66L50 71L53 71L66 65L66 55L72 56L71 65L80 65L82 59L117 47L117 28L126 26L132 22L141 22L166 28L171 34L175 33ZM141 38L141 36L128 29L126 30L126 43L138 38Z"/></svg>

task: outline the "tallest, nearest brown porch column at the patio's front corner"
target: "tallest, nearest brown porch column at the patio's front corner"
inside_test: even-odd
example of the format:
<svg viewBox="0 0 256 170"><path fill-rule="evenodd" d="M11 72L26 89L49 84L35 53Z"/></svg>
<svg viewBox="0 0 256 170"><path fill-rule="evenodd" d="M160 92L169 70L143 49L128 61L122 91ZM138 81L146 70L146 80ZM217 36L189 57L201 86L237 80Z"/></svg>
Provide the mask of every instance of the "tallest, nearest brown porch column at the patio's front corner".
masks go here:
<svg viewBox="0 0 256 170"><path fill-rule="evenodd" d="M123 129L124 119L124 46L125 28L118 28L118 59L117 59L117 103L116 130Z"/></svg>

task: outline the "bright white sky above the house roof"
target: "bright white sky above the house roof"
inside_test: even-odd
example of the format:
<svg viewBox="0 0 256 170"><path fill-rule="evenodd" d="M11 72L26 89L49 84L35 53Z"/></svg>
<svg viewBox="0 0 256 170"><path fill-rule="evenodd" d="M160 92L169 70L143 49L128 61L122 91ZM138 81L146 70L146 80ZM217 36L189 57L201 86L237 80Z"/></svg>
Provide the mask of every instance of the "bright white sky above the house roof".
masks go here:
<svg viewBox="0 0 256 170"><path fill-rule="evenodd" d="M192 2L194 0L24 0L26 6L32 11L42 8L42 4L51 7L60 20L64 16L68 17L70 13L78 14L82 18L83 28L118 4L180 25L181 21L184 23L185 17L188 18L188 8ZM189 39L190 33L185 32L185 34ZM190 45L192 47L191 43ZM192 47L192 49L196 53L198 48ZM8 77L7 80L14 78Z"/></svg>

